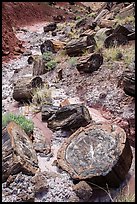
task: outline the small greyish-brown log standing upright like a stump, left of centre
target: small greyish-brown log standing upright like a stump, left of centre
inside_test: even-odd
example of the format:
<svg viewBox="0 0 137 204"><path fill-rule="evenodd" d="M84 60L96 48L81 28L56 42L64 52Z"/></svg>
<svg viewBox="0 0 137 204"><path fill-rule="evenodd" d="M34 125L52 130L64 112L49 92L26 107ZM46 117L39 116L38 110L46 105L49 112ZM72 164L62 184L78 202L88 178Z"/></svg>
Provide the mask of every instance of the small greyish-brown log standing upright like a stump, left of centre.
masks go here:
<svg viewBox="0 0 137 204"><path fill-rule="evenodd" d="M38 76L45 74L47 72L44 64L44 60L42 56L39 56L38 58L34 59L33 63L33 76Z"/></svg>

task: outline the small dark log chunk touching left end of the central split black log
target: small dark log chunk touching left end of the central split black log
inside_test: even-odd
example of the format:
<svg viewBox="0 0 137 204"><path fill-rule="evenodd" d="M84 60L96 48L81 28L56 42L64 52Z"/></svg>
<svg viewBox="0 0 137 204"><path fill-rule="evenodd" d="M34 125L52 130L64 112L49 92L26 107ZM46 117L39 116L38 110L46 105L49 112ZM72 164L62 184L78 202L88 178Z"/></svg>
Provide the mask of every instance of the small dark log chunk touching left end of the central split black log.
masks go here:
<svg viewBox="0 0 137 204"><path fill-rule="evenodd" d="M57 110L59 110L58 106L43 105L41 108L42 121L47 121Z"/></svg>

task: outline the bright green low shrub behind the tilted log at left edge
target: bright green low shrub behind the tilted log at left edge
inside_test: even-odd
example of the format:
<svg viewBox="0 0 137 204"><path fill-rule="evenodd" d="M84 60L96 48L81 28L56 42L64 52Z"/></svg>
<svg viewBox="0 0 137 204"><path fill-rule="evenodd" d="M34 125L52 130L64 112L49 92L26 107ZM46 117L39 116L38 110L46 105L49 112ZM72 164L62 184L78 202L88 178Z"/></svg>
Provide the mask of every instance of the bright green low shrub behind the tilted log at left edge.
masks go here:
<svg viewBox="0 0 137 204"><path fill-rule="evenodd" d="M15 115L14 113L5 113L2 115L2 127L6 127L9 122L14 121L30 135L34 129L34 123L23 115Z"/></svg>

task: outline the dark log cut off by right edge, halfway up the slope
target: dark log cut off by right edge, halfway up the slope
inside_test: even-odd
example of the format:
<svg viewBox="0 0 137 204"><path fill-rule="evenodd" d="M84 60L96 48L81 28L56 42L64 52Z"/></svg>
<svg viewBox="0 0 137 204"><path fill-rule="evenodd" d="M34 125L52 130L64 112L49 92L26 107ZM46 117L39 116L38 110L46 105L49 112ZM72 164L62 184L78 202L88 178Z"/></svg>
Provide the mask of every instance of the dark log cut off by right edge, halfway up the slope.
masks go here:
<svg viewBox="0 0 137 204"><path fill-rule="evenodd" d="M135 97L135 70L123 73L123 87L127 95Z"/></svg>

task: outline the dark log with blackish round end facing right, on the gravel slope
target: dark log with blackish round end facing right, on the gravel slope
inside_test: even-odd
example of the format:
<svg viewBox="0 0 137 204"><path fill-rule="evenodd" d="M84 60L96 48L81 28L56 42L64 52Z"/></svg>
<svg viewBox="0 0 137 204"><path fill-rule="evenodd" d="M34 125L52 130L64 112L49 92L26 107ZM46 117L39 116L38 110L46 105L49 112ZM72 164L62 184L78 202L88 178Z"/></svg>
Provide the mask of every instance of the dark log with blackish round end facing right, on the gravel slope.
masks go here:
<svg viewBox="0 0 137 204"><path fill-rule="evenodd" d="M78 61L79 63L76 65L76 68L80 73L92 73L98 70L103 64L103 56L99 53L93 53L86 57L79 58Z"/></svg>

